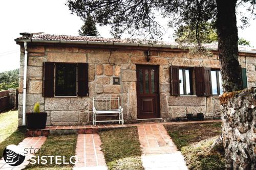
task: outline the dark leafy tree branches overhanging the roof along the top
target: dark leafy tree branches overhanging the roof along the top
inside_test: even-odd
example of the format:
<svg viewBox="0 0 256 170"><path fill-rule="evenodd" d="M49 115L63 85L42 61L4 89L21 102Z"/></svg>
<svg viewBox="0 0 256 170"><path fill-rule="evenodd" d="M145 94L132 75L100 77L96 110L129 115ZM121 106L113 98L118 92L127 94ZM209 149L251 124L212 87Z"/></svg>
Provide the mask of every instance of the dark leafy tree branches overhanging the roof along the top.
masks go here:
<svg viewBox="0 0 256 170"><path fill-rule="evenodd" d="M249 5L247 12L255 15L255 1L239 0L237 7ZM200 37L207 32L203 23L215 23L217 18L216 0L200 1L86 1L68 0L66 4L72 13L77 14L82 19L88 17L90 13L95 21L102 25L111 25L112 34L121 37L124 32L131 35L150 35L151 38L161 37L165 30L159 23L158 16L169 18L169 26L179 28L182 25L189 26L193 30L197 41L202 41ZM159 11L159 12L157 12ZM250 18L244 16L242 21ZM245 23L245 22L243 22Z"/></svg>

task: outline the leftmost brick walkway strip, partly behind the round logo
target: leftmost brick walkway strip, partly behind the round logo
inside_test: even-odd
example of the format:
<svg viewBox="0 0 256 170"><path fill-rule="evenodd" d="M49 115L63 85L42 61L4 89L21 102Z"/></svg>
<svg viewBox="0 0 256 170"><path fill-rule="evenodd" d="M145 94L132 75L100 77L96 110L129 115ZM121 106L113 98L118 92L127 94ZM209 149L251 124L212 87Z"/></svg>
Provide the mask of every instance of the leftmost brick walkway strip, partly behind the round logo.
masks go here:
<svg viewBox="0 0 256 170"><path fill-rule="evenodd" d="M18 144L18 147L20 147L20 149L22 149L22 151L24 151L24 148L41 148L41 145L46 141L46 137L44 136L40 136L40 137L27 137L25 138L22 142L20 142ZM33 153L33 150L32 150L32 153ZM19 170L19 169L23 169L25 168L26 165L29 164L29 159L33 156L33 154L25 154L26 155L26 158L25 158L25 161L18 165L18 166L11 166L11 165L8 165L4 158L2 158L0 160L0 169L4 169L4 170L9 170L9 169L15 169L15 170Z"/></svg>

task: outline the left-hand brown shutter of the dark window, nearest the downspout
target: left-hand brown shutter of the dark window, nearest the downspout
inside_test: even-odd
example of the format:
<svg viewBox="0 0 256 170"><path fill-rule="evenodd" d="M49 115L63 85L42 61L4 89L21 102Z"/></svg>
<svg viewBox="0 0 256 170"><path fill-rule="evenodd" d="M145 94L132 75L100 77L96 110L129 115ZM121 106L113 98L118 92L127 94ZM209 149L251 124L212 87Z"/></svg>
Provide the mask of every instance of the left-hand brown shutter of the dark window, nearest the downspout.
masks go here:
<svg viewBox="0 0 256 170"><path fill-rule="evenodd" d="M54 63L53 62L43 62L42 64L43 72L43 92L45 97L54 96Z"/></svg>

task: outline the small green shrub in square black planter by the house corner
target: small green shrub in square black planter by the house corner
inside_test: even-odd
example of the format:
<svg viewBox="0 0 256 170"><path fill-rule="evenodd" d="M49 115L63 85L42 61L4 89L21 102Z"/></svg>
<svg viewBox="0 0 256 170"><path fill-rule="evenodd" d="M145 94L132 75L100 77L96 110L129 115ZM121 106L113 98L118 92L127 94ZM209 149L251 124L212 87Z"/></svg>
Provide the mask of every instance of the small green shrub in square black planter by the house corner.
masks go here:
<svg viewBox="0 0 256 170"><path fill-rule="evenodd" d="M45 129L46 128L46 112L40 112L40 105L37 102L34 106L34 112L26 113L26 125L28 129Z"/></svg>

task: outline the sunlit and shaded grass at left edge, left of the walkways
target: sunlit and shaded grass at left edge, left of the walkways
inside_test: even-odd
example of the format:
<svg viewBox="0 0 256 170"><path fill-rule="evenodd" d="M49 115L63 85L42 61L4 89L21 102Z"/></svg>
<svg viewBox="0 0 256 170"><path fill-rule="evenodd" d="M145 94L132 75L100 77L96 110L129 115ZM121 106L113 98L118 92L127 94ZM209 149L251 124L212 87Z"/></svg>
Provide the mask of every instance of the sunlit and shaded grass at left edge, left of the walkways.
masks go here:
<svg viewBox="0 0 256 170"><path fill-rule="evenodd" d="M9 144L18 144L25 138L26 128L18 127L18 111L8 111L0 114L0 158Z"/></svg>

